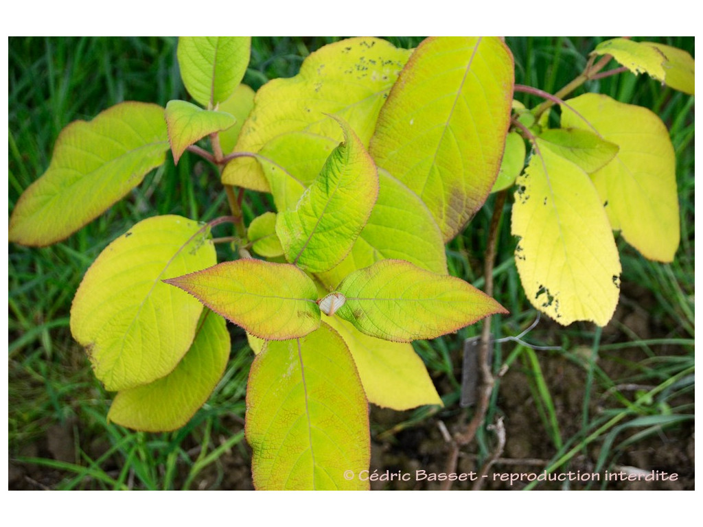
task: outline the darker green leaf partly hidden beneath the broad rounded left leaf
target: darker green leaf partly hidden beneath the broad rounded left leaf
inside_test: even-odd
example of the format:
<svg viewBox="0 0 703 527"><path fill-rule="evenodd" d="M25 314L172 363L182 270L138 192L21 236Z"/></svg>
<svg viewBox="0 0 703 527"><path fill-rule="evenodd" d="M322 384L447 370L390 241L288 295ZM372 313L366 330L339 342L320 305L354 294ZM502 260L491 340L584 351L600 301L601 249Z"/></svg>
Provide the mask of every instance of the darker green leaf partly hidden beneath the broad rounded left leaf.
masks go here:
<svg viewBox="0 0 703 527"><path fill-rule="evenodd" d="M117 393L108 421L150 432L183 427L222 377L229 352L224 318L204 310L193 345L176 369L150 384Z"/></svg>

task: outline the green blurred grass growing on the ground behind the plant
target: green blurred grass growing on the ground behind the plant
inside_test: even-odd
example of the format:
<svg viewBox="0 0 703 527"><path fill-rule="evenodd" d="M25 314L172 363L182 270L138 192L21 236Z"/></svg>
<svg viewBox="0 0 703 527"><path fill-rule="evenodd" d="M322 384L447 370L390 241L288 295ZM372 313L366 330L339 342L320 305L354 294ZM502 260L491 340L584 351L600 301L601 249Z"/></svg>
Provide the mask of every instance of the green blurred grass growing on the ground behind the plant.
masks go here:
<svg viewBox="0 0 703 527"><path fill-rule="evenodd" d="M269 79L291 77L302 60L335 37L254 39L245 82L258 89ZM394 37L398 46L416 46L420 38ZM554 92L583 69L602 39L508 38L515 56L516 82ZM688 49L692 39L665 39ZM9 201L10 211L22 190L48 166L61 129L75 119L92 119L122 100L165 105L186 98L175 56L174 38L11 38L9 41ZM592 460L598 470L613 469L638 445L656 443L662 434L687 434L695 408L694 323L694 119L693 98L631 74L589 82L581 89L607 93L651 108L670 129L677 155L681 204L681 246L675 261L646 261L619 240L623 266L622 313L643 315L637 325L625 315L604 330L588 324L557 328L543 321L525 337L534 344L560 346L535 351L498 344L498 378L487 422L510 416L506 401L511 383L524 382L535 409L535 437L544 469L561 471ZM578 95L581 91L574 93ZM526 105L539 102L517 94ZM550 117L557 119L553 111ZM193 177L198 174L198 177ZM101 250L129 226L153 214L183 214L212 219L226 210L224 193L212 181L212 168L186 155L178 167L167 163L149 174L129 199L112 207L64 242L44 249L11 245L9 254L9 450L24 470L16 488L226 488L233 485L225 467L231 458L248 459L243 441L244 396L252 355L233 330L234 346L225 376L208 403L186 427L168 434L143 434L105 421L111 396L94 378L82 349L72 341L68 313L86 269ZM247 193L247 221L269 207ZM482 254L494 207L489 198L464 233L447 248L451 273L483 287ZM519 334L536 313L524 298L513 259L510 202L498 238L496 297L512 313L494 325L496 338ZM629 289L626 287L629 285ZM649 302L646 308L640 299ZM645 313L641 313L645 311ZM621 313L621 314L622 314ZM643 334L643 331L650 334ZM373 424L375 441L399 441L402 431L434 427L433 419L458 422L471 410L458 410L461 339L478 334L467 327L458 336L415 343L428 370L444 391L445 407L405 412L392 423ZM565 412L561 386L550 374L553 363L572 365L583 379L578 408ZM512 375L512 377L510 376ZM567 422L566 417L572 419ZM58 426L72 438L65 459L47 443L46 431ZM510 436L508 441L510 441ZM597 445L598 448L594 448ZM494 437L477 435L477 462L494 450ZM441 462L441 461L440 461ZM580 465L579 465L580 466ZM37 481L38 475L47 477Z"/></svg>

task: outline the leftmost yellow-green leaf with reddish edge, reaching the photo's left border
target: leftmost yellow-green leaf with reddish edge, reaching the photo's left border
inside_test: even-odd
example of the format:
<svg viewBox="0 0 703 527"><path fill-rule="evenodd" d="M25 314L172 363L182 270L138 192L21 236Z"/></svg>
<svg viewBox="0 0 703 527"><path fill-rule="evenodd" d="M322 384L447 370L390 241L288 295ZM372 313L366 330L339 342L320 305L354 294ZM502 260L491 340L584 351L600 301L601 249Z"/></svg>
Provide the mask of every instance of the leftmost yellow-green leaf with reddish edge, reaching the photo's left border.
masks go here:
<svg viewBox="0 0 703 527"><path fill-rule="evenodd" d="M44 247L103 214L165 161L164 110L120 103L91 122L75 121L56 140L49 169L10 218L10 241Z"/></svg>

